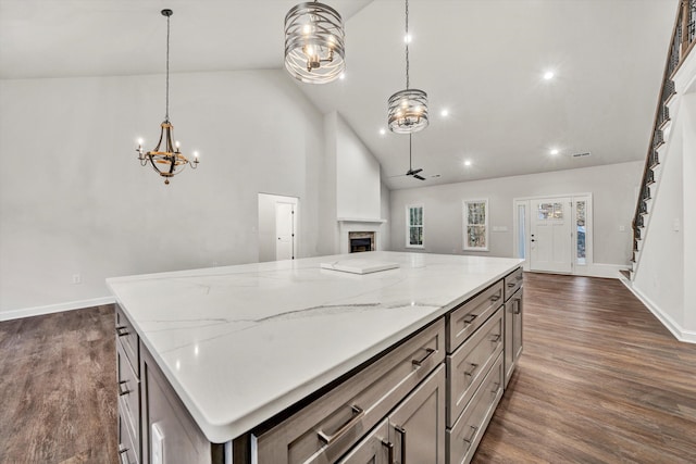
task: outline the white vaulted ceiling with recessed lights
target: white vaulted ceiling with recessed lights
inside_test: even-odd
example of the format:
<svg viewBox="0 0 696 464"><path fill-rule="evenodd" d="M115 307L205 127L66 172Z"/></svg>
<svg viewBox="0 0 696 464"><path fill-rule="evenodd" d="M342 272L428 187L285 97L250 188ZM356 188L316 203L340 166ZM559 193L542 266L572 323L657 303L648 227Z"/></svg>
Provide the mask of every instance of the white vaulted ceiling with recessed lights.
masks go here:
<svg viewBox="0 0 696 464"><path fill-rule="evenodd" d="M297 85L343 115L390 188L645 159L678 0L410 0L411 87L430 97L431 125L413 136L425 181L390 177L408 168L408 137L381 134L405 88L403 1L324 2L346 18L346 76ZM0 78L161 73L163 8L174 73L281 68L296 3L0 0Z"/></svg>

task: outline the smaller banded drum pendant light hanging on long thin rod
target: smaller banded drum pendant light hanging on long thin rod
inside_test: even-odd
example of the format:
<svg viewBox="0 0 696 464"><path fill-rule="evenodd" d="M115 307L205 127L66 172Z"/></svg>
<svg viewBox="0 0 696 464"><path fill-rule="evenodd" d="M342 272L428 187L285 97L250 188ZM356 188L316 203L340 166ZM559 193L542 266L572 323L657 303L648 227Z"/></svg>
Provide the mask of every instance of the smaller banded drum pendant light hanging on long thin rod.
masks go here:
<svg viewBox="0 0 696 464"><path fill-rule="evenodd" d="M409 0L406 0L406 89L389 97L387 124L397 134L412 134L427 127L427 93L411 89L409 79Z"/></svg>

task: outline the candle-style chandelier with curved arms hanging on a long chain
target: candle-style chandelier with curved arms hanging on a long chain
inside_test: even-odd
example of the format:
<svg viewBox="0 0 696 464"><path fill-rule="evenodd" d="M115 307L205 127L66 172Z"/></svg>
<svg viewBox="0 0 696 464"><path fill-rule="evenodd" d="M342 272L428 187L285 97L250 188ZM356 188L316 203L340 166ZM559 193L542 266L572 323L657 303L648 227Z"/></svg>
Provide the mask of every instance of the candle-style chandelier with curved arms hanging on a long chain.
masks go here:
<svg viewBox="0 0 696 464"><path fill-rule="evenodd" d="M179 151L178 141L174 140L174 126L170 122L170 16L172 10L162 10L162 15L166 16L166 109L164 122L160 125L160 141L154 149L144 152L142 139L138 139L138 160L146 166L150 164L160 176L164 177L164 184L170 184L170 177L181 173L184 167L190 165L192 170L198 167L198 152L194 152L194 161L189 161ZM162 143L164 146L162 147Z"/></svg>

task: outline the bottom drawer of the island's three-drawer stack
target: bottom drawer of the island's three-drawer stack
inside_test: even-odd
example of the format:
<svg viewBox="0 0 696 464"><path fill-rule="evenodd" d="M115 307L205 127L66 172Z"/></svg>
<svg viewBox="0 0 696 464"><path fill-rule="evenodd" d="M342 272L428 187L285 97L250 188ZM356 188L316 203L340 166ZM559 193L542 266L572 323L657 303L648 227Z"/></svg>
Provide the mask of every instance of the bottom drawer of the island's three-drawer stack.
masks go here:
<svg viewBox="0 0 696 464"><path fill-rule="evenodd" d="M447 430L447 463L471 462L490 417L502 397L502 356L498 356L488 375L451 430Z"/></svg>

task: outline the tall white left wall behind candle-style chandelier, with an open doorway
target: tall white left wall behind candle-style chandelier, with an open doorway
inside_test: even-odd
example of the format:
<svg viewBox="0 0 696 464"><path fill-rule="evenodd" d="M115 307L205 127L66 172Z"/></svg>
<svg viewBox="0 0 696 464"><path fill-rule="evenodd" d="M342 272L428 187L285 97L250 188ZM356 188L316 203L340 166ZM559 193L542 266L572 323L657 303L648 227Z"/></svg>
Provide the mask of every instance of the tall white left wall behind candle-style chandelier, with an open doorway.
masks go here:
<svg viewBox="0 0 696 464"><path fill-rule="evenodd" d="M134 151L163 116L161 75L0 81L0 318L108 297L110 276L254 262L260 191L300 199L300 255L334 250L323 118L285 72L173 75L201 163L170 186Z"/></svg>

